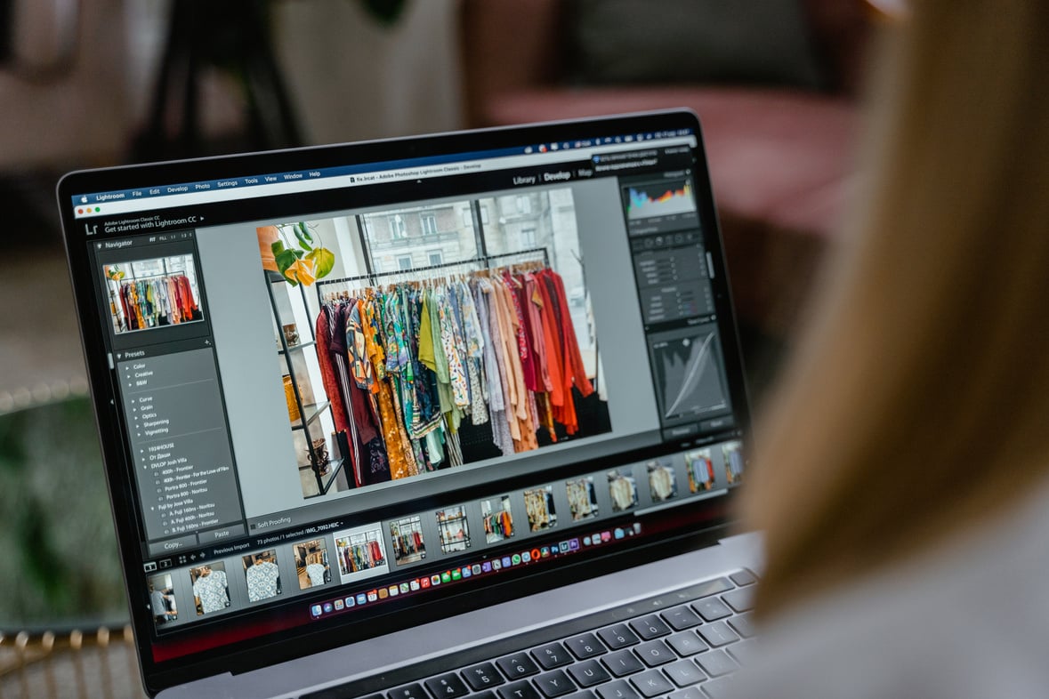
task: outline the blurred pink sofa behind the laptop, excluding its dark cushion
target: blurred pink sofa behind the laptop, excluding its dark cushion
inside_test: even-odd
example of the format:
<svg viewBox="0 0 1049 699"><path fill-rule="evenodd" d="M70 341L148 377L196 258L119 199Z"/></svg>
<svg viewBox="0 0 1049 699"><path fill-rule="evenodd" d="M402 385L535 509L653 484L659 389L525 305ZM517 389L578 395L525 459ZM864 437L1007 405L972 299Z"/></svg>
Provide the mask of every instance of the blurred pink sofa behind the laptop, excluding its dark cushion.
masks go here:
<svg viewBox="0 0 1049 699"><path fill-rule="evenodd" d="M643 0L642 0L643 2ZM704 128L733 296L745 326L786 337L833 235L852 174L856 93L874 17L858 0L805 0L823 91L573 82L563 0L462 0L473 126L688 107Z"/></svg>

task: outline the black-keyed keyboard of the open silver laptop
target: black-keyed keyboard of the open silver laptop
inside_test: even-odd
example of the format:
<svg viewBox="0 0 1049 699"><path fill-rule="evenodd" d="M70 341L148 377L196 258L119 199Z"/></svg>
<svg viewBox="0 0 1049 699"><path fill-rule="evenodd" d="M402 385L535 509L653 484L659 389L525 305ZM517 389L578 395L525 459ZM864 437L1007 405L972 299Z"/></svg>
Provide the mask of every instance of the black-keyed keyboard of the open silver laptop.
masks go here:
<svg viewBox="0 0 1049 699"><path fill-rule="evenodd" d="M755 583L741 569L302 699L719 699L754 642Z"/></svg>

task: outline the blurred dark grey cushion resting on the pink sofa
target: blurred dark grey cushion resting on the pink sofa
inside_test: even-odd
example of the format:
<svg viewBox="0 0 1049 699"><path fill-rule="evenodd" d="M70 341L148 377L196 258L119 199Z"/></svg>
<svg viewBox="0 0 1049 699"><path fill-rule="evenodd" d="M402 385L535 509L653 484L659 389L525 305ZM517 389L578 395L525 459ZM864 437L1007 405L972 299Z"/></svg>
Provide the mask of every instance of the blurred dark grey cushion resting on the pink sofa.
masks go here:
<svg viewBox="0 0 1049 699"><path fill-rule="evenodd" d="M574 0L573 12L580 84L823 84L797 0Z"/></svg>

